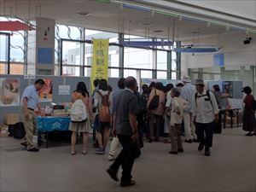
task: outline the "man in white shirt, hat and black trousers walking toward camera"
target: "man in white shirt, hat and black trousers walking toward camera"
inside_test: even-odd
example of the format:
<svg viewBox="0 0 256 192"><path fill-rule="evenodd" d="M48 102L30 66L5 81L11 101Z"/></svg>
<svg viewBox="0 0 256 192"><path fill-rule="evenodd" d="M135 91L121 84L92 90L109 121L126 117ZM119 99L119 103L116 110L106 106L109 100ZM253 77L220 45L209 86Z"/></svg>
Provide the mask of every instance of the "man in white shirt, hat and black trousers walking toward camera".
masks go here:
<svg viewBox="0 0 256 192"><path fill-rule="evenodd" d="M214 121L218 121L218 104L213 93L204 89L205 84L202 79L196 79L195 87L197 92L193 99L192 110L195 132L200 142L198 150L205 148L205 155L210 156Z"/></svg>

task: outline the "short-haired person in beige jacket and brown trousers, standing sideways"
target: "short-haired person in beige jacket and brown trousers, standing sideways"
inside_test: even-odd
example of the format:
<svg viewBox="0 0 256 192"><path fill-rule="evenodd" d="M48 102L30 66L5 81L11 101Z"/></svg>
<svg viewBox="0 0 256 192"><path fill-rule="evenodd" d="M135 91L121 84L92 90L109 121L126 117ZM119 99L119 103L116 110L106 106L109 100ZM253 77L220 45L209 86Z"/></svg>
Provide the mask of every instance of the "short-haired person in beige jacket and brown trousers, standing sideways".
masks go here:
<svg viewBox="0 0 256 192"><path fill-rule="evenodd" d="M183 153L183 143L181 140L180 128L183 122L183 113L184 108L187 108L189 102L183 100L180 96L179 88L172 88L172 109L171 109L171 118L170 118L170 138L172 143L172 149L169 152L170 154Z"/></svg>

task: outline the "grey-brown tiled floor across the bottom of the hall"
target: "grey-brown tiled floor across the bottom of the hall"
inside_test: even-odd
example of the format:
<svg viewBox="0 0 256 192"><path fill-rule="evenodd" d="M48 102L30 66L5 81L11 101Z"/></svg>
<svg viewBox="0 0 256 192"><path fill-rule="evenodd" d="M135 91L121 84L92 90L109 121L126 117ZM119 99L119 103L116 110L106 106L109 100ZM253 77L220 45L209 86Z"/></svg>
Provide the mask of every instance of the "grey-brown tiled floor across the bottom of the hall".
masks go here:
<svg viewBox="0 0 256 192"><path fill-rule="evenodd" d="M184 153L168 154L169 144L145 143L133 176L137 185L120 188L106 169L107 155L69 154L69 146L28 153L13 138L0 138L0 191L256 191L256 137L241 129L214 135L212 156L184 143ZM81 151L78 146L78 152Z"/></svg>

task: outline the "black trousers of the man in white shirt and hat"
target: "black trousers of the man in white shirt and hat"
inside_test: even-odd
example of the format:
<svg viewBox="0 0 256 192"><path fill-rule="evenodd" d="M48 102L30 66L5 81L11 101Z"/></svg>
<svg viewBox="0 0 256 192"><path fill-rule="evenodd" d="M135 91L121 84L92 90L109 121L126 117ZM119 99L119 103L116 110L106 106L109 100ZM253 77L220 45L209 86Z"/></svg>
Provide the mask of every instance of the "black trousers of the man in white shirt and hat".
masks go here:
<svg viewBox="0 0 256 192"><path fill-rule="evenodd" d="M212 147L212 137L214 131L214 122L208 124L195 123L195 134L206 150Z"/></svg>

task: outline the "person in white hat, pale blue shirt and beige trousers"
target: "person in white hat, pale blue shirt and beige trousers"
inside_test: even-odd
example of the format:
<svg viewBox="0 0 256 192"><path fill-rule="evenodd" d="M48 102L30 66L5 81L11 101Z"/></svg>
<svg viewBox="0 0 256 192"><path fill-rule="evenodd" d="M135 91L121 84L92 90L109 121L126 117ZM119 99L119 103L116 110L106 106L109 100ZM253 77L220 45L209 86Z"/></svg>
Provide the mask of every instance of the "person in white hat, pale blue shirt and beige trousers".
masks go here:
<svg viewBox="0 0 256 192"><path fill-rule="evenodd" d="M189 102L188 108L184 109L183 121L185 130L185 142L192 143L198 142L195 135L195 125L192 123L192 101L195 96L195 85L191 84L189 76L183 76L183 87L181 88L180 95L183 100Z"/></svg>

